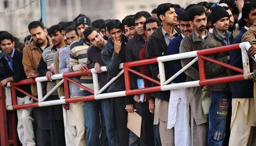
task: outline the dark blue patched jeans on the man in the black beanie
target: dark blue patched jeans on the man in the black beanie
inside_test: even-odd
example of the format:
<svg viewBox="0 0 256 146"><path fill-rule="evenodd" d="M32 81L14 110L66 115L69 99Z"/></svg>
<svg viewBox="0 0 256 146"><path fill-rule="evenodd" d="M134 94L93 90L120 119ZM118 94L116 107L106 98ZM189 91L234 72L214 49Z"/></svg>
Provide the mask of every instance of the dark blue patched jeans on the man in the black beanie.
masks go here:
<svg viewBox="0 0 256 146"><path fill-rule="evenodd" d="M210 95L208 146L222 146L226 135L231 92L211 91Z"/></svg>

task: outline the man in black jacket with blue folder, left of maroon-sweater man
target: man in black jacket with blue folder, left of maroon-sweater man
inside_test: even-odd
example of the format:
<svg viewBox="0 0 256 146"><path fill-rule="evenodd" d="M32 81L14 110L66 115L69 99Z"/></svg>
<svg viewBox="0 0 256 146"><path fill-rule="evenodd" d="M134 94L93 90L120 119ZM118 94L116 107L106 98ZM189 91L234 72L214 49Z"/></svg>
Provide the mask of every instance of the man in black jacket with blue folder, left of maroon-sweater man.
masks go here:
<svg viewBox="0 0 256 146"><path fill-rule="evenodd" d="M137 61L139 60L140 50L142 50L143 46L146 43L147 35L144 34L144 22L151 18L151 15L146 11L137 12L134 15L135 20L135 29L138 32L138 35L130 39L125 48L125 61ZM137 72L140 72L140 68L136 67L133 68ZM139 84L144 84L143 78L136 76L133 73L130 73L130 80L131 80L131 89L139 89ZM143 100L140 99L143 97ZM130 131L130 139L132 139L133 145L153 145L154 144L154 130L153 130L153 117L148 110L148 101L144 99L144 94L142 95L135 95L134 100L134 107L137 110L137 113L142 117L142 132L140 134L140 138L136 136L132 131ZM152 99L151 99L152 100Z"/></svg>

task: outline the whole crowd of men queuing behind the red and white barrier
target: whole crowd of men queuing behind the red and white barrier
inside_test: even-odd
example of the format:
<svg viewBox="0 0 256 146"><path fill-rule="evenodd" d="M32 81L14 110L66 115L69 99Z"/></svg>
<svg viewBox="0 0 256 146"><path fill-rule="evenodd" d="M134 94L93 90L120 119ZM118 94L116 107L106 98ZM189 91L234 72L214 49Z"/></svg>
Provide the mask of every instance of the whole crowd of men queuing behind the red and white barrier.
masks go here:
<svg viewBox="0 0 256 146"><path fill-rule="evenodd" d="M256 54L256 1L221 0L201 2L185 9L178 4L159 4L151 14L146 11L128 15L122 21L95 20L80 14L72 22L49 27L39 21L28 26L25 47L16 46L12 34L1 31L0 85L46 76L43 95L60 80L53 74L94 68L102 88L121 71L120 63L164 55L250 42L251 70ZM48 34L46 36L46 34ZM241 50L206 55L243 69ZM170 78L195 57L165 62L165 78ZM106 66L107 72L101 70ZM158 64L132 68L160 81ZM224 66L204 61L206 78L240 74ZM92 74L72 80L93 90ZM130 73L131 89L158 86ZM170 84L200 80L195 62ZM18 86L37 97L37 85ZM124 75L103 93L124 91ZM202 91L210 93L210 107L202 107ZM69 82L71 98L92 95ZM61 85L46 99L65 98ZM18 104L33 103L24 92L16 92ZM255 146L256 84L243 80L180 88L134 96L76 102L49 107L17 110L18 136L23 146ZM142 117L140 137L127 128L128 113Z"/></svg>

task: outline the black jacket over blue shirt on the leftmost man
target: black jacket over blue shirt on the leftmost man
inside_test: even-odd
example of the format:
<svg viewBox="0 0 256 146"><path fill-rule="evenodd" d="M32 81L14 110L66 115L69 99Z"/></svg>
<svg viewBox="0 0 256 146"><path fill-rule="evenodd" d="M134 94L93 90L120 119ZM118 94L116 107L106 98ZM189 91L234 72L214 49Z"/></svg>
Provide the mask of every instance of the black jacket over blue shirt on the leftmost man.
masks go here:
<svg viewBox="0 0 256 146"><path fill-rule="evenodd" d="M14 72L9 67L7 60L4 57L2 58L3 67L4 67L4 78L13 76L14 82L19 82L20 80L27 79L27 76L24 72L24 68L23 68L23 64L22 64L22 56L23 56L22 52L15 49L14 56L13 56L13 62L12 62L12 68L13 68ZM20 85L17 87L31 94L30 84ZM16 91L16 95L18 97L26 96L25 94L23 94L19 91Z"/></svg>

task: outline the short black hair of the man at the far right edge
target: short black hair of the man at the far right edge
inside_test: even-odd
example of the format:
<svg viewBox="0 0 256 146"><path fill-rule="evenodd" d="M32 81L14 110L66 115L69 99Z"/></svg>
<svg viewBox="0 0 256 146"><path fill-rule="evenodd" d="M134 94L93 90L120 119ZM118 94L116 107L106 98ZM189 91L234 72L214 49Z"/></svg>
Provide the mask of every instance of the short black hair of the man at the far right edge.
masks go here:
<svg viewBox="0 0 256 146"><path fill-rule="evenodd" d="M256 9L256 3L245 4L242 8L242 18L238 21L240 29L246 25L244 19L249 18L249 14L253 9Z"/></svg>

